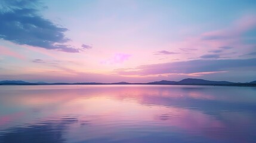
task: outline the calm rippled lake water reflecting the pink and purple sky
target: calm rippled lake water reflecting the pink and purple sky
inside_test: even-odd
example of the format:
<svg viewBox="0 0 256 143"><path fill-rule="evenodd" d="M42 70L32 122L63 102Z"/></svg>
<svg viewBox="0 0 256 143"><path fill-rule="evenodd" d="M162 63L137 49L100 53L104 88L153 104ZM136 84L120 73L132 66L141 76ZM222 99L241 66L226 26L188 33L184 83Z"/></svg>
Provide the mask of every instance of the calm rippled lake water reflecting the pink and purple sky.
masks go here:
<svg viewBox="0 0 256 143"><path fill-rule="evenodd" d="M0 142L256 142L256 88L0 86Z"/></svg>

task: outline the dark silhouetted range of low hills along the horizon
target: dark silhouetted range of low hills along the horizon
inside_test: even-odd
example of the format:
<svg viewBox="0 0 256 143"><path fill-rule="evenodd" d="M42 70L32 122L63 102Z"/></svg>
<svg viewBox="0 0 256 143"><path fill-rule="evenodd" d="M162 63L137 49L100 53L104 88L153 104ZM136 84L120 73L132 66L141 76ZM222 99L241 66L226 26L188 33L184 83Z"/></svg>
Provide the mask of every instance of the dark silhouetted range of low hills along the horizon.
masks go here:
<svg viewBox="0 0 256 143"><path fill-rule="evenodd" d="M97 82L82 82L82 83L46 83L46 82L24 82L22 80L4 80L0 82L0 85L227 85L227 86L256 86L256 80L249 83L236 83L227 81L211 81L204 79L183 79L178 82L162 80L159 82L148 83L128 83L128 82L116 82L116 83L97 83Z"/></svg>

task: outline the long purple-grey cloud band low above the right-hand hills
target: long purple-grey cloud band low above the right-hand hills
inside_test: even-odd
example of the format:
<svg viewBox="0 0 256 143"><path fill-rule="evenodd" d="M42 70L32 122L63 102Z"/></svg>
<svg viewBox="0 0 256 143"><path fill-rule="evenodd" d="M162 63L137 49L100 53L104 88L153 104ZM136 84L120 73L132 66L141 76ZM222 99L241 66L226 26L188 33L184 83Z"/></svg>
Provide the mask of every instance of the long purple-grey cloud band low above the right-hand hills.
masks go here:
<svg viewBox="0 0 256 143"><path fill-rule="evenodd" d="M174 63L149 64L139 66L134 70L116 70L120 75L149 75L149 74L171 74L171 73L200 73L211 71L239 70L248 67L255 69L256 58L233 59L233 60L191 60Z"/></svg>

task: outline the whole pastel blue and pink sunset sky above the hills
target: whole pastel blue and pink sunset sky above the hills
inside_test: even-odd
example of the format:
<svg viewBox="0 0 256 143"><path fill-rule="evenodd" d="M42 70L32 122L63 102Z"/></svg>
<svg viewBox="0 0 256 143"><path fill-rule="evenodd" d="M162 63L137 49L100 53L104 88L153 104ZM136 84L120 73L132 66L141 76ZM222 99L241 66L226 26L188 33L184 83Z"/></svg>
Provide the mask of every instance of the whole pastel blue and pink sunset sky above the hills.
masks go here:
<svg viewBox="0 0 256 143"><path fill-rule="evenodd" d="M185 78L256 80L256 1L0 1L0 80Z"/></svg>

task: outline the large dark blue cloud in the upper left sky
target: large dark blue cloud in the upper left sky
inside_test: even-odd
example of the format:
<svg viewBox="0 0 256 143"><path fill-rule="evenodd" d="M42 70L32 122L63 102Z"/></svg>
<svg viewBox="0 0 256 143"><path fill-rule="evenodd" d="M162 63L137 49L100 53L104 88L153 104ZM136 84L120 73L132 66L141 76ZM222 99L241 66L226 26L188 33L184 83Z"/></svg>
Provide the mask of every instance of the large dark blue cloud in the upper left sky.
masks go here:
<svg viewBox="0 0 256 143"><path fill-rule="evenodd" d="M38 14L39 1L2 0L0 3L0 39L19 45L37 46L64 52L79 52L79 48L65 44L70 41L57 26Z"/></svg>

